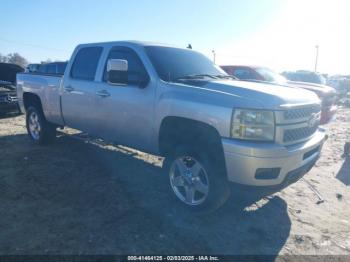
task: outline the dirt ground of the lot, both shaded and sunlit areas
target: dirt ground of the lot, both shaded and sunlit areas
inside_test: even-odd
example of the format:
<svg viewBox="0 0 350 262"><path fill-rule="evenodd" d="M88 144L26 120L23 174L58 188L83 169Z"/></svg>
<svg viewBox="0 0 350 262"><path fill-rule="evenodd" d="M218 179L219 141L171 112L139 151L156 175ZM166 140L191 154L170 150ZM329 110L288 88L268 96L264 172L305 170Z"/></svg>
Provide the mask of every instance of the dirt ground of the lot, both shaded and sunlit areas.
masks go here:
<svg viewBox="0 0 350 262"><path fill-rule="evenodd" d="M305 176L324 203L299 181L194 215L174 202L157 157L72 135L35 146L23 116L2 118L0 254L350 254L350 109L327 129Z"/></svg>

